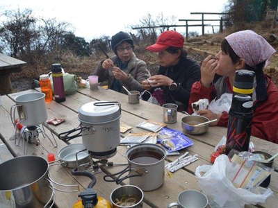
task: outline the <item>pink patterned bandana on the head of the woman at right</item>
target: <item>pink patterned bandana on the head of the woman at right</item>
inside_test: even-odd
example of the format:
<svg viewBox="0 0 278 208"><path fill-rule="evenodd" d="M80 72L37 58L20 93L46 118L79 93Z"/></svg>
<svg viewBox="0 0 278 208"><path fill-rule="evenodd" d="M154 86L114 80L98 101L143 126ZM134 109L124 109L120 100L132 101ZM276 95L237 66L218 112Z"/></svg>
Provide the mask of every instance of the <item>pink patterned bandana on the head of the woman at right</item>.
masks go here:
<svg viewBox="0 0 278 208"><path fill-rule="evenodd" d="M250 67L265 60L265 66L268 65L268 60L276 52L261 35L254 31L239 31L225 38L236 55L243 58Z"/></svg>

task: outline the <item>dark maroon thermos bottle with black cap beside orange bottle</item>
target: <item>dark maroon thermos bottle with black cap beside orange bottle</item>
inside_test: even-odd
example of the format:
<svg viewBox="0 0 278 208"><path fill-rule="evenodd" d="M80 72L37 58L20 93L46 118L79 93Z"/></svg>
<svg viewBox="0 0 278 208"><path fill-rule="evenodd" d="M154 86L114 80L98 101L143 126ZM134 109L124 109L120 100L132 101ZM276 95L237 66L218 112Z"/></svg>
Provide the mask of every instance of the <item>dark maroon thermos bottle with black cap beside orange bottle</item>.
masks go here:
<svg viewBox="0 0 278 208"><path fill-rule="evenodd" d="M54 98L57 103L60 103L65 101L62 67L60 64L52 64L51 71L54 85Z"/></svg>

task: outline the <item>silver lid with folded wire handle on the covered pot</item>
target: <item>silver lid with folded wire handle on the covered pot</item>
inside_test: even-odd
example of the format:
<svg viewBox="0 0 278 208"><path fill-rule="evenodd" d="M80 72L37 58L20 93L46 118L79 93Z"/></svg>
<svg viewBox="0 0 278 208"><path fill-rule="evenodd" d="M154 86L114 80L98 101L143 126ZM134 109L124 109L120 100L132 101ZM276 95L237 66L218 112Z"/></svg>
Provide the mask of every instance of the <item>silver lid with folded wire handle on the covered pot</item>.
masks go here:
<svg viewBox="0 0 278 208"><path fill-rule="evenodd" d="M120 103L94 101L79 107L79 121L85 123L102 123L120 116Z"/></svg>

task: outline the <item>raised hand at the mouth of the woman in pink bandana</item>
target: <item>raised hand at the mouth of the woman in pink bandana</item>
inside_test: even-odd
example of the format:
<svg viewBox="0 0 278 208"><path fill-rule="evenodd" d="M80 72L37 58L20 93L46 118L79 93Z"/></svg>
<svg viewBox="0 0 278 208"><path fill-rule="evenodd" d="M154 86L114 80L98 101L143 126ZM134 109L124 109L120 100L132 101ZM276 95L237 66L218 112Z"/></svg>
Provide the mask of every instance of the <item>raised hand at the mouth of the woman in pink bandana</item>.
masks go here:
<svg viewBox="0 0 278 208"><path fill-rule="evenodd" d="M209 87L211 85L217 68L218 60L213 58L212 55L208 55L208 57L204 59L201 67L201 83L204 87Z"/></svg>

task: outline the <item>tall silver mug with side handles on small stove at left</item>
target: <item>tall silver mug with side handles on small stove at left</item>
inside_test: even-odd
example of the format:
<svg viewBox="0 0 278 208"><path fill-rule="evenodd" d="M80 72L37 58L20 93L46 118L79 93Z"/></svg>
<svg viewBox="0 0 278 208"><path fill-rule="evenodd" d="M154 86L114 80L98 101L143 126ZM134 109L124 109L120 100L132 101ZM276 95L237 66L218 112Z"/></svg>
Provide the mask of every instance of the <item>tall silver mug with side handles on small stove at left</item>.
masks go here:
<svg viewBox="0 0 278 208"><path fill-rule="evenodd" d="M12 118L15 117L15 108L19 115L19 121L23 125L38 125L47 121L47 107L44 101L45 94L31 92L19 95L15 98L15 105L11 107ZM15 118L12 119L14 122Z"/></svg>

